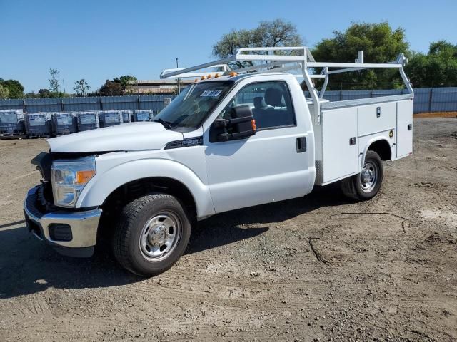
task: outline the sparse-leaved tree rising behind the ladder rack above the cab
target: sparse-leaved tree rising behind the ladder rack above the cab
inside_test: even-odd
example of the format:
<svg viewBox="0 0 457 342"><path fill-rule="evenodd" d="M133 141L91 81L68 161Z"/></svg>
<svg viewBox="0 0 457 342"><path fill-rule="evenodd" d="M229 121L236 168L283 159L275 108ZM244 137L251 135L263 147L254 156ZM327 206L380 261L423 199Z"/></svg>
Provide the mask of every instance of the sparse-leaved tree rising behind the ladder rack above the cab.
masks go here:
<svg viewBox="0 0 457 342"><path fill-rule="evenodd" d="M231 57L236 54L238 48L253 47L280 47L302 46L303 38L298 34L296 25L291 21L275 19L273 21L261 21L256 28L251 30L232 30L224 34L213 46L213 56L218 58ZM251 66L249 62L236 62L236 66Z"/></svg>

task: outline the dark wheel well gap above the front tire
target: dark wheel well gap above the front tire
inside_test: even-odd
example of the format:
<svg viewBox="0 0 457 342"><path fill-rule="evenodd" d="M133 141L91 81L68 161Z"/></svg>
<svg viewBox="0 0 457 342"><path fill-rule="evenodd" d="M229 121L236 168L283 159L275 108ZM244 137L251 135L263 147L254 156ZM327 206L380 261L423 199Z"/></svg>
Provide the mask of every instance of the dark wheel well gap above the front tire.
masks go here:
<svg viewBox="0 0 457 342"><path fill-rule="evenodd" d="M151 192L164 192L178 198L189 213L189 219L196 217L196 203L186 185L167 177L142 178L121 185L106 197L101 205L103 214L101 216L100 226L102 229L99 229L99 237L104 235L107 230L106 227L113 227L117 221L117 214L121 212L127 203Z"/></svg>

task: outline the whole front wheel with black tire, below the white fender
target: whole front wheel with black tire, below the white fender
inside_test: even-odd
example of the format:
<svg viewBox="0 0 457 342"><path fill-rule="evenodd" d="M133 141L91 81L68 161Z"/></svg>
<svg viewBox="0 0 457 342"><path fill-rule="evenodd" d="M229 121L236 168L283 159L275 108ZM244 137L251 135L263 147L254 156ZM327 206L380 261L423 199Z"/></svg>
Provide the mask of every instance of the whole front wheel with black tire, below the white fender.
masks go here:
<svg viewBox="0 0 457 342"><path fill-rule="evenodd" d="M114 230L114 257L139 276L155 276L186 250L191 223L176 197L154 193L127 204Z"/></svg>

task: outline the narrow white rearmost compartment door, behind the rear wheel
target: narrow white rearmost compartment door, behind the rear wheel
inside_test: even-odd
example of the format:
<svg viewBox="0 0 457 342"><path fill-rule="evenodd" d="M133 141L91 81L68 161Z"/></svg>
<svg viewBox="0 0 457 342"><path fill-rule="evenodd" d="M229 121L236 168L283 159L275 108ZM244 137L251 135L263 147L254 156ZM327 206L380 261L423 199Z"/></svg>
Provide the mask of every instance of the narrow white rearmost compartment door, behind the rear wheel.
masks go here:
<svg viewBox="0 0 457 342"><path fill-rule="evenodd" d="M413 101L397 102L396 110L396 157L406 157L413 152Z"/></svg>

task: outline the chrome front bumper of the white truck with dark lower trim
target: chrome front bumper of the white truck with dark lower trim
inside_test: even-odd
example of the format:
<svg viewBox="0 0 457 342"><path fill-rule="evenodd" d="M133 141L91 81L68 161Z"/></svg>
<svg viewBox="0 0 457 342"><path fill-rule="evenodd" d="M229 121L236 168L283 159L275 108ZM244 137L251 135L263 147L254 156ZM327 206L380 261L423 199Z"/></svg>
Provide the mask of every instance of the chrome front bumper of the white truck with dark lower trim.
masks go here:
<svg viewBox="0 0 457 342"><path fill-rule="evenodd" d="M24 200L29 231L61 254L72 257L90 257L94 254L101 209L44 212L37 205L38 190L39 186L29 190Z"/></svg>

